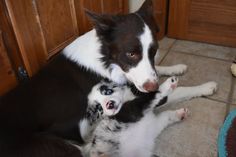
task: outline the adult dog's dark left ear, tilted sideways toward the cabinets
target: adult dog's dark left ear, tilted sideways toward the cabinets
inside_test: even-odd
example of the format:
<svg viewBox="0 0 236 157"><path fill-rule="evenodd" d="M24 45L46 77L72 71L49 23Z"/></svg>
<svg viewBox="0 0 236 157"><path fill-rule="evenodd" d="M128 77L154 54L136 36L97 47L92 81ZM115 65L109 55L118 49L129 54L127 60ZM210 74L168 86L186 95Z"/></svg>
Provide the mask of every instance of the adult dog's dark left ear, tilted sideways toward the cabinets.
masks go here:
<svg viewBox="0 0 236 157"><path fill-rule="evenodd" d="M110 31L110 29L115 25L111 15L96 14L87 9L85 10L85 13L93 22L98 33Z"/></svg>

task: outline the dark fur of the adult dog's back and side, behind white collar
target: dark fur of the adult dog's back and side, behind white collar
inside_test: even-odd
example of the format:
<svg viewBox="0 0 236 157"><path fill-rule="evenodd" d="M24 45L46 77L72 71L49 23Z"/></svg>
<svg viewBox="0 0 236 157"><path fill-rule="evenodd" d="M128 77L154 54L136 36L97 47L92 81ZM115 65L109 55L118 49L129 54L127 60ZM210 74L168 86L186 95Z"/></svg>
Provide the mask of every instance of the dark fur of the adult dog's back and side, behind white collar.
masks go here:
<svg viewBox="0 0 236 157"><path fill-rule="evenodd" d="M57 127L60 124L65 124L68 134L65 131L66 134L59 132L57 135L82 143L75 124L85 116L87 95L100 79L96 74L85 71L63 55L59 55L29 82L19 85L3 96L0 101L0 155L2 156L3 152L13 153L14 147L19 149L19 146L33 150L31 147L37 144L37 149L55 147L55 150L49 150L45 154L39 153L43 151L35 151L32 156L56 156L50 154L50 151L54 153L59 149L54 146L54 138L51 139L49 134L57 130L53 128L61 128ZM19 156L27 157L20 155L20 152Z"/></svg>

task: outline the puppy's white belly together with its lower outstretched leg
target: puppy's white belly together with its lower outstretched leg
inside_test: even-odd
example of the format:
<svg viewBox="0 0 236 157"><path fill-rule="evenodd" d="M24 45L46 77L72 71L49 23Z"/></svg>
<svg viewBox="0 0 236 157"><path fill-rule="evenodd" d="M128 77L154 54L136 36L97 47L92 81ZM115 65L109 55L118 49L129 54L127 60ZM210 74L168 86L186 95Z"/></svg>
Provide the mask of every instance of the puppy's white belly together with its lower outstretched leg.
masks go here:
<svg viewBox="0 0 236 157"><path fill-rule="evenodd" d="M187 112L187 109L182 108L176 111L165 111L159 115L153 112L145 114L141 121L122 133L120 157L151 157L155 139L167 126L186 116Z"/></svg>

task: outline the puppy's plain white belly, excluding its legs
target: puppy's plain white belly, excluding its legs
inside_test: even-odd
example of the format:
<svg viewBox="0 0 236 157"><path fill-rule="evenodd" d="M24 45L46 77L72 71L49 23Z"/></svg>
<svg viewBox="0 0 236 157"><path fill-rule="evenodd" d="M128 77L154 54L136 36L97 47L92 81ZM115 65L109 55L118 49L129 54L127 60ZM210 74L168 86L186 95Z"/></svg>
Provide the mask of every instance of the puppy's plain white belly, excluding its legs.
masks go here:
<svg viewBox="0 0 236 157"><path fill-rule="evenodd" d="M141 121L121 133L121 156L150 157L153 151L154 140L158 136L155 128L156 117L149 112Z"/></svg>

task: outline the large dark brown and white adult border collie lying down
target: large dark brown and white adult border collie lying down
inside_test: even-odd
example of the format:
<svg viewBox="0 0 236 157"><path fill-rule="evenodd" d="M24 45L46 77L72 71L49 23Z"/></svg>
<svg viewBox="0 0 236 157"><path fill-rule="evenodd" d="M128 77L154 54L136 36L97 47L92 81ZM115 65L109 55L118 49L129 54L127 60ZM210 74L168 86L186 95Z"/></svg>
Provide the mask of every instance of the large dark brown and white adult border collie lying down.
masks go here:
<svg viewBox="0 0 236 157"><path fill-rule="evenodd" d="M154 66L158 29L151 0L128 15L87 14L94 30L1 98L0 156L79 157L80 151L66 141L83 143L78 121L86 116L88 93L101 79L133 84L140 96L127 105L139 104L155 98L158 75L185 70L183 65ZM167 103L210 95L215 90L215 82L179 87Z"/></svg>

